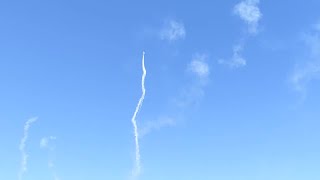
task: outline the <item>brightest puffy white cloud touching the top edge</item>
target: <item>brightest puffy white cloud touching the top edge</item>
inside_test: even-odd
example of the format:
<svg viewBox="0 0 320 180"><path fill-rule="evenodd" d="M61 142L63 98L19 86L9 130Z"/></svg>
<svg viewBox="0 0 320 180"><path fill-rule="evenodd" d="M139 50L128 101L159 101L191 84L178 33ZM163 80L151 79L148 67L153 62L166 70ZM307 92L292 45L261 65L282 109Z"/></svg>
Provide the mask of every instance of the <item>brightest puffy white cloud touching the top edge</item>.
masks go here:
<svg viewBox="0 0 320 180"><path fill-rule="evenodd" d="M259 0L244 0L234 6L234 13L248 24L248 32L256 34L262 13L258 7Z"/></svg>

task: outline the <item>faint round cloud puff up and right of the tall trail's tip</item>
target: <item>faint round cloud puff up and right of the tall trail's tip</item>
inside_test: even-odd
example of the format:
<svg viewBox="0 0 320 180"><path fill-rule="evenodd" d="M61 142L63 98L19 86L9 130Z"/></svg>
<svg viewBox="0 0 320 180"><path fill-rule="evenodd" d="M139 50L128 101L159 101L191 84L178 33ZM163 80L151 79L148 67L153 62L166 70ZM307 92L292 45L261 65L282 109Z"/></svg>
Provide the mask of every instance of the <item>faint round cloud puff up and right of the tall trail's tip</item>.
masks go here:
<svg viewBox="0 0 320 180"><path fill-rule="evenodd" d="M162 40L176 41L186 37L186 30L182 22L170 20L164 24L160 31L160 38Z"/></svg>

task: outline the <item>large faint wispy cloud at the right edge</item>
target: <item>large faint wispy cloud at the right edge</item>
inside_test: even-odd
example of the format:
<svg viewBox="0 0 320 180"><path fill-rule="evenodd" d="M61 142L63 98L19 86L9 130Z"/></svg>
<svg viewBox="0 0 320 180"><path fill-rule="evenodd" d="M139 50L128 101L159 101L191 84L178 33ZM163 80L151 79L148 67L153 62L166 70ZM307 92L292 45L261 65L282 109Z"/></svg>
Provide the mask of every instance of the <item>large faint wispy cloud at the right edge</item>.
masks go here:
<svg viewBox="0 0 320 180"><path fill-rule="evenodd" d="M314 29L303 36L308 55L303 63L296 64L290 77L295 90L304 95L307 85L313 80L320 79L320 29L317 26L318 24L314 25Z"/></svg>

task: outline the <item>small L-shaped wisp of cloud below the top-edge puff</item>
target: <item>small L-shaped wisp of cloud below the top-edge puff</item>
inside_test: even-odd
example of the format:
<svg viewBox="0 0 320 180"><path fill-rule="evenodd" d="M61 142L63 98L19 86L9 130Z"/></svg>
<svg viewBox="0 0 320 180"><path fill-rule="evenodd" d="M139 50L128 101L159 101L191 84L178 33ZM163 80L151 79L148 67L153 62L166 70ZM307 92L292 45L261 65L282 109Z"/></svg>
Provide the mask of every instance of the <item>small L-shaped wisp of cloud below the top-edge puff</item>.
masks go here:
<svg viewBox="0 0 320 180"><path fill-rule="evenodd" d="M225 59L219 59L218 63L219 64L225 64L228 65L231 68L240 68L243 66L246 66L247 61L242 57L242 50L243 50L243 45L238 44L233 47L233 56L231 59L225 60Z"/></svg>

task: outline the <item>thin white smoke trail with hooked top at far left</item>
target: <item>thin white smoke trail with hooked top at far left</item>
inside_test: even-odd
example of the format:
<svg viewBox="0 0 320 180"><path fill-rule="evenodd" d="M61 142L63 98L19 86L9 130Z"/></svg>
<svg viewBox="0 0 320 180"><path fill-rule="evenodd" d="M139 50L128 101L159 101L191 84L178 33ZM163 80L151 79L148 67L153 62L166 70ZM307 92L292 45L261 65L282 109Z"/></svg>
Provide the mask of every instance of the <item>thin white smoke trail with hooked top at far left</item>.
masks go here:
<svg viewBox="0 0 320 180"><path fill-rule="evenodd" d="M28 131L29 131L31 124L34 123L37 119L38 118L36 118L36 117L31 118L24 125L24 134L23 134L23 137L22 137L20 145L19 145L19 150L20 150L21 156L22 156L21 167L20 167L20 171L18 173L19 180L22 180L23 174L27 171L28 154L25 150L25 147L26 147L26 141L28 140L28 134L29 134Z"/></svg>

